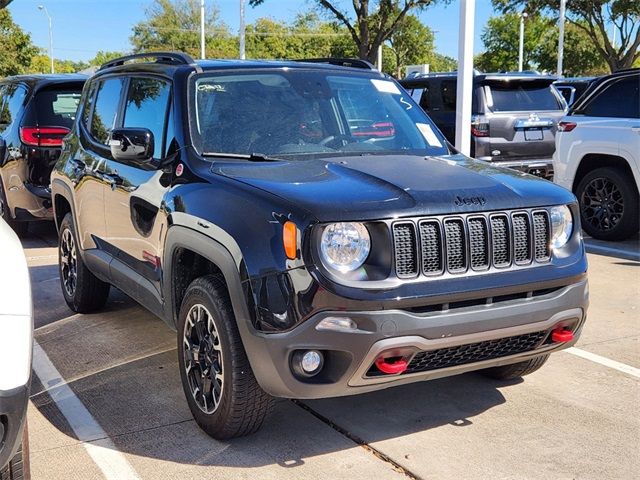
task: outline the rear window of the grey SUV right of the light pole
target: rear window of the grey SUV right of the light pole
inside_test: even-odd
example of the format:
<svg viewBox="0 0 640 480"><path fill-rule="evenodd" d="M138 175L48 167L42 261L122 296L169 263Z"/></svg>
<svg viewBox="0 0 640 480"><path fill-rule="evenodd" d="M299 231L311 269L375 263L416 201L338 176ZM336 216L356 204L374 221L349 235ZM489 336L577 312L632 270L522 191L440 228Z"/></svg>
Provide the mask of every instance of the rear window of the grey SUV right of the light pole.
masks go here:
<svg viewBox="0 0 640 480"><path fill-rule="evenodd" d="M494 112L530 112L562 110L562 104L549 85L519 83L490 85L487 103Z"/></svg>

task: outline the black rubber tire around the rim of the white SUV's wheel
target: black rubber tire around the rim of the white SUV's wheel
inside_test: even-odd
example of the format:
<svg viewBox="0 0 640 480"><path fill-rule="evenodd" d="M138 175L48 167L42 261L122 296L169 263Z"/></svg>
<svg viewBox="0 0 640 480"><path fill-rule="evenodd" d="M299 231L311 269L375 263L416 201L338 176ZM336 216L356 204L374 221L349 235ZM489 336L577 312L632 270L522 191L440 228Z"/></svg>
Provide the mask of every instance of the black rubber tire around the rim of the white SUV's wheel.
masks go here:
<svg viewBox="0 0 640 480"><path fill-rule="evenodd" d="M631 235L638 233L640 228L640 199L638 190L633 181L633 176L626 175L625 172L616 167L600 167L588 172L576 187L576 197L581 200L582 191L586 185L597 177L610 178L620 189L624 198L624 213L620 222L611 230L600 231L592 228L584 220L582 228L587 234L599 240L625 240ZM582 215L582 209L581 209Z"/></svg>

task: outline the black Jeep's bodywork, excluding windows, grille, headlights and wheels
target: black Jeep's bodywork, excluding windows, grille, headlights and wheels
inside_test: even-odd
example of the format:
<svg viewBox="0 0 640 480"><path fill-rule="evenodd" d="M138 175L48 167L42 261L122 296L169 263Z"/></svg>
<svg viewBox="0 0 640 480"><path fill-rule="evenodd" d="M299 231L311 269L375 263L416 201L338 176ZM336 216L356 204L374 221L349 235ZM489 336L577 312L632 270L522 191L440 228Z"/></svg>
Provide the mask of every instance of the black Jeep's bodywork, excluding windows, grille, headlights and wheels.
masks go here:
<svg viewBox="0 0 640 480"><path fill-rule="evenodd" d="M78 120L52 173L52 192L58 225L67 213L73 215L80 254L94 275L121 288L174 328L181 296L194 275L221 275L256 378L263 389L278 396L320 397L381 388L377 380L362 386L350 377L373 344L402 337L403 318L413 319L407 320L413 325L411 335L480 331L500 335L510 324L525 328L526 319L533 317L544 328L552 318L579 333L588 303L587 263L575 222L575 198L562 188L456 155L437 131L432 133L440 139L440 151L446 152L438 156L378 152L291 159L199 153L190 135L194 78L296 69L390 82L374 70L258 61L118 64L105 67L87 82ZM121 125L126 98L134 91L133 82L141 78L155 79L158 89L167 82L170 91L166 110L157 114L165 126L162 135L154 137L161 153L146 162L117 161L109 150L108 135L102 143L92 137L101 134L91 117L94 103L100 101L96 91L106 89L110 79L122 79L120 94L111 99L119 115L111 112L110 118L120 119L112 122L114 129L126 127ZM115 88L114 83L109 88ZM207 88L225 92L221 86ZM384 88L397 87L385 84ZM405 108L419 111L399 88L397 95ZM420 115L424 125L431 125ZM151 129L152 123L132 127ZM352 131L361 128L354 125ZM423 218L466 221L476 214L489 218L489 212L498 211L531 215L557 205L568 205L574 212L576 230L544 262L441 277L418 274L402 279L395 273L391 229L399 220L419 225ZM318 257L318 235L327 222L342 221L364 222L380 248L367 260L373 263L363 267L366 272L360 278L339 278ZM295 258L283 249L286 222L293 222L299 232ZM494 297L490 309L495 318L482 317L482 324L471 322L465 330L463 317L471 319L474 312L486 311ZM461 316L456 317L457 326L452 322L447 329L454 309ZM371 335L317 331L329 312L352 313ZM382 318L383 314L390 316ZM437 328L428 327L429 315L439 316ZM348 348L350 341L353 351ZM291 371L292 353L306 347L326 351L330 358L331 367L315 380L301 380ZM541 351L558 348L547 345ZM407 381L429 376L411 376Z"/></svg>

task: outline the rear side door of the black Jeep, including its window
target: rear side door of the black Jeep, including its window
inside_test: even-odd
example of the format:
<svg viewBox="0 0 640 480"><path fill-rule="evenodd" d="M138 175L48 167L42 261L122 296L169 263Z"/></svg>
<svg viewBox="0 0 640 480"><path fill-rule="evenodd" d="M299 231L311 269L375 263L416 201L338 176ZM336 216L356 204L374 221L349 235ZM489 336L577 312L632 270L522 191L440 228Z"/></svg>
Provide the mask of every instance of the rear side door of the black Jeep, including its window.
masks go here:
<svg viewBox="0 0 640 480"><path fill-rule="evenodd" d="M104 243L105 178L104 164L110 154L109 135L119 121L121 97L126 79L107 77L92 82L82 106L78 125L80 145L72 149L69 165L74 185L75 218L78 240L84 250L99 248L109 251ZM106 272L105 272L106 273Z"/></svg>

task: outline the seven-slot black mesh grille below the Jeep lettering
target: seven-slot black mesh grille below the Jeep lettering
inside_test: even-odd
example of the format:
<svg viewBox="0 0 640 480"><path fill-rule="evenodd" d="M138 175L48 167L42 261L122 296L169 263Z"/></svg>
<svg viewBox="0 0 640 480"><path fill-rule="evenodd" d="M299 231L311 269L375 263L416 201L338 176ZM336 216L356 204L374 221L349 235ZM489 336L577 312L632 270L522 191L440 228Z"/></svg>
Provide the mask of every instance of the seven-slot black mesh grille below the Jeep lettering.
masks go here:
<svg viewBox="0 0 640 480"><path fill-rule="evenodd" d="M546 210L403 220L392 225L396 275L462 274L550 259Z"/></svg>

